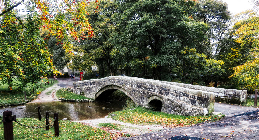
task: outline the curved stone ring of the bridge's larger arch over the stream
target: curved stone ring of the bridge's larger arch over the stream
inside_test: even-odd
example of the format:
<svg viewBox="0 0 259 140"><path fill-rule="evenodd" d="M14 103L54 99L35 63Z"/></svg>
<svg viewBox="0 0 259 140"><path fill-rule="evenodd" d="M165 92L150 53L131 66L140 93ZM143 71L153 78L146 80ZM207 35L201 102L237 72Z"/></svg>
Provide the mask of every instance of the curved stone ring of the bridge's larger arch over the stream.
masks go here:
<svg viewBox="0 0 259 140"><path fill-rule="evenodd" d="M95 99L97 99L97 98L99 97L99 95L105 94L105 92L109 92L108 94L111 94L111 93L113 93L113 92L116 91L116 90L122 91L122 92L125 93L128 97L130 97L130 98L133 100L133 102L134 102L135 104L137 104L137 102L135 101L135 98L134 98L126 89L124 89L123 87L120 87L120 86L118 86L118 85L113 85L113 84L111 84L111 85L106 85L105 87L99 89L99 90L96 92L96 94L95 94Z"/></svg>

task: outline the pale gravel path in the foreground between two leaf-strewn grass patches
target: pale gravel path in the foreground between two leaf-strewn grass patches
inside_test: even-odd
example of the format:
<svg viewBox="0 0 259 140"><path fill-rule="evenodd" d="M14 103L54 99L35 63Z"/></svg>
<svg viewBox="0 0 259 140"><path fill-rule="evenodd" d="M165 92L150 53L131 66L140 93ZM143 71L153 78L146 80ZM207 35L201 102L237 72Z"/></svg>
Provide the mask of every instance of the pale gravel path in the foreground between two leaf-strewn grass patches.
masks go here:
<svg viewBox="0 0 259 140"><path fill-rule="evenodd" d="M80 122L88 126L98 127L99 123L115 123L119 124L119 128L122 130L109 130L111 132L120 132L120 133L127 133L127 134L134 134L134 135L141 135L145 133L150 133L153 131L159 131L163 129L169 129L168 127L164 127L162 125L136 125L131 123L124 123L120 121L113 120L112 118L101 118L101 119L94 119L94 120L82 120L82 121L74 121Z"/></svg>

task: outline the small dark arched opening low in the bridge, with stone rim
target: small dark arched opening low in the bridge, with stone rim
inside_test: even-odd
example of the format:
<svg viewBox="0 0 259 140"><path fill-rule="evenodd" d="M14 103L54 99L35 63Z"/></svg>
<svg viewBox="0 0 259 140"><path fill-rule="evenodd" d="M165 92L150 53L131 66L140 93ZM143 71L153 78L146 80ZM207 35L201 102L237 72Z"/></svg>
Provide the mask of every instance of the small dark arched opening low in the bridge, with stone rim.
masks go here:
<svg viewBox="0 0 259 140"><path fill-rule="evenodd" d="M163 107L163 98L152 95L148 98L148 107L155 110L155 111L161 111Z"/></svg>

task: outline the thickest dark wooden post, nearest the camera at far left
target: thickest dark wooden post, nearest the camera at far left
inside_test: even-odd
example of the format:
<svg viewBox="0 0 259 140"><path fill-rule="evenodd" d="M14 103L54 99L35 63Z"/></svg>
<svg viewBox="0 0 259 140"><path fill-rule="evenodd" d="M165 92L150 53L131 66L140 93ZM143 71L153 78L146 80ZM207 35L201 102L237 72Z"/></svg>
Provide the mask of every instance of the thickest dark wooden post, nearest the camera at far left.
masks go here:
<svg viewBox="0 0 259 140"><path fill-rule="evenodd" d="M13 140L13 120L16 120L16 116L12 116L12 111L3 112L4 140Z"/></svg>

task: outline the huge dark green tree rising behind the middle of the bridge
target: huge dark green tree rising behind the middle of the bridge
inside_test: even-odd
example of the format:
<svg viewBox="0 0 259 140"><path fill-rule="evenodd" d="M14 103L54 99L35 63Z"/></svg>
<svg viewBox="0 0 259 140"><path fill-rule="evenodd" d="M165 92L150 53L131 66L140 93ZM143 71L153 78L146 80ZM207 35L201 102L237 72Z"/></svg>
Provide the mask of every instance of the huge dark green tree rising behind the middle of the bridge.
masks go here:
<svg viewBox="0 0 259 140"><path fill-rule="evenodd" d="M163 71L175 67L184 47L194 48L204 39L208 26L195 22L187 12L194 1L158 0L137 1L126 10L126 32L139 47L149 49L147 63L153 69L153 78L160 80ZM141 49L139 49L141 50Z"/></svg>

